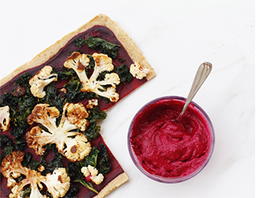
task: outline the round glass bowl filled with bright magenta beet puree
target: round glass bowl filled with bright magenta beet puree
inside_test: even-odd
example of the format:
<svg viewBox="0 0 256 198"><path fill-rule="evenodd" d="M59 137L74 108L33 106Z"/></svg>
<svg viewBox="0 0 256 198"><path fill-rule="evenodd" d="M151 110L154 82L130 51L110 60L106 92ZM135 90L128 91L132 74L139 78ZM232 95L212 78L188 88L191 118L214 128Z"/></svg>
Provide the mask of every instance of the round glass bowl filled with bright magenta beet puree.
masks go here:
<svg viewBox="0 0 256 198"><path fill-rule="evenodd" d="M186 98L149 101L133 118L128 132L132 161L147 177L176 183L195 177L211 158L214 129L205 111L191 102L179 121Z"/></svg>

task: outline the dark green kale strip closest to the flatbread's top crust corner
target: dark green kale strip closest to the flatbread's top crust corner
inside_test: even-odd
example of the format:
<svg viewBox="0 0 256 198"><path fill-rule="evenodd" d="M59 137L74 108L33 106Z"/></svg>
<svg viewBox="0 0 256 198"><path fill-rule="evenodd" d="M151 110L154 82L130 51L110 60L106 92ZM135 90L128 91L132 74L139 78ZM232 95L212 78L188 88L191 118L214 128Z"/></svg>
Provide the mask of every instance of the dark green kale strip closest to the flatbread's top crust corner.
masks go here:
<svg viewBox="0 0 256 198"><path fill-rule="evenodd" d="M101 38L88 36L87 39L78 39L74 41L74 44L81 48L83 45L88 45L88 48L93 50L101 50L102 54L107 54L112 59L115 59L120 49L120 45L113 44L107 40Z"/></svg>

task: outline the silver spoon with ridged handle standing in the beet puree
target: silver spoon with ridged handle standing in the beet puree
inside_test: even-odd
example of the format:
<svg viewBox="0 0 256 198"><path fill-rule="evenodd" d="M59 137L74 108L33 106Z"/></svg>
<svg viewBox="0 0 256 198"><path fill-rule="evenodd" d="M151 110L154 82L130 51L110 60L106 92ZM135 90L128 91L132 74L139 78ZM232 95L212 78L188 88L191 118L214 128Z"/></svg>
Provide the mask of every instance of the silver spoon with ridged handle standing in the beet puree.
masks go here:
<svg viewBox="0 0 256 198"><path fill-rule="evenodd" d="M201 87L202 83L205 82L206 78L211 73L211 68L212 68L212 65L211 65L211 63L208 63L208 62L205 62L199 66L199 68L197 69L197 74L192 83L190 92L188 93L187 100L185 102L185 105L183 106L183 111L173 121L179 121L181 119L181 117L183 116L183 113L187 109L187 106L190 104L193 97L195 97L195 95L196 95L197 91L199 90L199 88Z"/></svg>

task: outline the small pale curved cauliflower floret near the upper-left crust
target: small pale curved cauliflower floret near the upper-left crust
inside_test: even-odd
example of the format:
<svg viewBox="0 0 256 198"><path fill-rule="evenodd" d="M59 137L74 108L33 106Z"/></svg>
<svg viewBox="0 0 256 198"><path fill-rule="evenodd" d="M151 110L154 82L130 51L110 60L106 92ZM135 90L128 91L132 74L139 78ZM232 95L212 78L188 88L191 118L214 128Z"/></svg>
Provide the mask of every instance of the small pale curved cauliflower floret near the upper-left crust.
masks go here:
<svg viewBox="0 0 256 198"><path fill-rule="evenodd" d="M45 97L44 88L49 85L50 82L57 81L58 74L51 72L52 68L47 65L30 79L31 93L34 97Z"/></svg>

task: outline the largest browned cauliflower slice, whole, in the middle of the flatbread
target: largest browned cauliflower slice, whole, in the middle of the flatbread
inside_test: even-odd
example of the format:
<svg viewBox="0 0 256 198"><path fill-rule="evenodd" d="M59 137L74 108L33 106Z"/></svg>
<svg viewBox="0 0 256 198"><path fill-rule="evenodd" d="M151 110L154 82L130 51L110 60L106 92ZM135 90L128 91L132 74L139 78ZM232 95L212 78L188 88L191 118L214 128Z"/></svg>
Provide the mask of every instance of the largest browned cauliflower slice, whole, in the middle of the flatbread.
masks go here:
<svg viewBox="0 0 256 198"><path fill-rule="evenodd" d="M59 153L62 153L70 161L81 161L91 151L91 144L87 137L79 132L70 130L86 130L88 126L88 113L83 104L66 103L59 125L56 118L59 117L58 109L49 107L48 104L38 104L34 107L31 115L27 117L28 124L34 122L44 125L48 131L35 126L26 132L26 143L34 148L36 154L45 153L46 144L56 144Z"/></svg>

